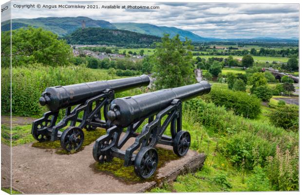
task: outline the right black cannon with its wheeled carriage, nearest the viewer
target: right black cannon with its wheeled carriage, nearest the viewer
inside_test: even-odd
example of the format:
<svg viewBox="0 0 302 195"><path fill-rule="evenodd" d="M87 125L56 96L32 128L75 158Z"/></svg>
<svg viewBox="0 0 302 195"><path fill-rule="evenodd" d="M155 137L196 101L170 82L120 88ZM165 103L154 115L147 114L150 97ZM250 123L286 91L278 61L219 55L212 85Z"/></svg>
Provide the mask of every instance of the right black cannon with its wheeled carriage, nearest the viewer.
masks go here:
<svg viewBox="0 0 302 195"><path fill-rule="evenodd" d="M185 156L190 146L190 134L182 130L182 101L208 94L211 86L207 81L163 89L133 97L116 98L107 113L111 127L106 135L99 137L93 148L93 157L99 163L109 162L113 157L124 158L124 166L134 166L137 176L152 176L158 164L156 144L173 147L178 156ZM148 122L141 133L136 130ZM171 137L164 135L170 125ZM123 137L121 134L126 129ZM135 137L134 143L125 151L124 144ZM138 150L138 153L133 153Z"/></svg>

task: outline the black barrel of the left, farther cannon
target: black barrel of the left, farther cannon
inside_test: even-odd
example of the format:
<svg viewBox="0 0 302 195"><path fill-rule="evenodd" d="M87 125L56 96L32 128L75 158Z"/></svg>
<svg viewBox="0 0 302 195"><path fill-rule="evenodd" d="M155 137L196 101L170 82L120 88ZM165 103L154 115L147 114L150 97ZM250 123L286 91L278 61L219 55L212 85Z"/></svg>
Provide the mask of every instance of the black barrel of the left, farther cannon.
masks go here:
<svg viewBox="0 0 302 195"><path fill-rule="evenodd" d="M83 103L89 98L100 95L106 89L112 89L114 92L121 92L136 87L147 86L149 83L150 78L147 75L142 75L132 78L48 87L39 98L39 103L42 106L46 105L50 111L55 112L62 108Z"/></svg>

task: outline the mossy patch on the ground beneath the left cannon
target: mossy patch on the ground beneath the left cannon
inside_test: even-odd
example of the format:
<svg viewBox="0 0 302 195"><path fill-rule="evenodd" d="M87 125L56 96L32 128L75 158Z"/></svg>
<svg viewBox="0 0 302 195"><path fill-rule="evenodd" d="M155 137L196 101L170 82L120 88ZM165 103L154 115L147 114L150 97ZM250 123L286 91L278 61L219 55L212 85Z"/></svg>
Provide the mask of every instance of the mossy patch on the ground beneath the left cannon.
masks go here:
<svg viewBox="0 0 302 195"><path fill-rule="evenodd" d="M84 132L84 142L82 145L82 148L77 150L81 151L83 148L92 142L94 142L98 137L101 137L102 135L106 134L105 129L97 128L94 131L87 131L86 129L83 129ZM43 148L43 149L57 149L56 153L57 154L74 154L76 152L71 151L70 153L66 152L61 148L60 140L57 141L45 141L45 142L35 142L32 145L33 147L36 148Z"/></svg>

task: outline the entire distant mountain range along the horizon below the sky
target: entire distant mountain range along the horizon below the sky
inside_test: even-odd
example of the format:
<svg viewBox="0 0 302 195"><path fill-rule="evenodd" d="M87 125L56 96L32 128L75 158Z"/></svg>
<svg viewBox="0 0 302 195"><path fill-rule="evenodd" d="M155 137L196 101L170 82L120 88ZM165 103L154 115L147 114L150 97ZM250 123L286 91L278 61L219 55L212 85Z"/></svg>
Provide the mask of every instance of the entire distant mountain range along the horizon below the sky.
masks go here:
<svg viewBox="0 0 302 195"><path fill-rule="evenodd" d="M13 30L17 28L23 28L28 25L34 27L42 27L46 30L56 33L60 37L66 36L76 29L82 26L82 21L85 20L86 27L101 27L106 29L119 29L128 30L136 33L153 35L157 37L162 37L164 34L169 34L170 37L174 37L179 34L181 40L185 40L187 37L194 42L214 42L214 41L232 41L232 42L267 42L267 43L298 43L298 38L271 38L271 37L258 37L252 39L216 39L216 38L204 38L200 37L190 31L182 30L175 27L167 26L156 26L148 23L110 23L105 20L93 20L88 17L48 17L48 18L36 18L36 19L13 19L12 28ZM10 30L10 21L1 22L1 30Z"/></svg>

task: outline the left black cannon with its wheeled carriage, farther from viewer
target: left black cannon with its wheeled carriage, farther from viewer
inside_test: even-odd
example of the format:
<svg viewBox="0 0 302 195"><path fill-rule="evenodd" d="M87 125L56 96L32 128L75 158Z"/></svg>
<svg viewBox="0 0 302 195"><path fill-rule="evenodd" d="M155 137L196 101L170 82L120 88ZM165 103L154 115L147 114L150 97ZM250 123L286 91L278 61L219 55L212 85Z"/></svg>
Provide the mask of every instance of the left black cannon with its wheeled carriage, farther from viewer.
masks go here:
<svg viewBox="0 0 302 195"><path fill-rule="evenodd" d="M110 102L114 99L114 93L147 86L149 83L150 78L142 75L48 87L39 98L39 103L49 111L33 121L31 133L39 142L60 140L64 150L76 151L84 141L83 128L92 131L97 127L110 127L107 112ZM62 109L65 109L65 116L57 122L59 111ZM69 123L68 128L63 132L59 131Z"/></svg>

